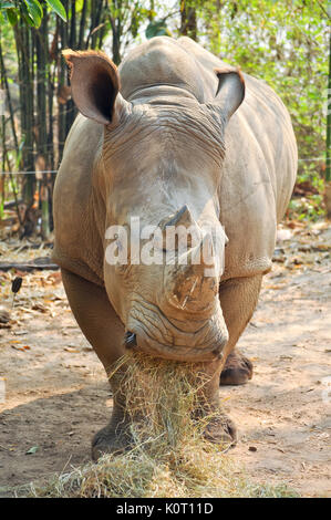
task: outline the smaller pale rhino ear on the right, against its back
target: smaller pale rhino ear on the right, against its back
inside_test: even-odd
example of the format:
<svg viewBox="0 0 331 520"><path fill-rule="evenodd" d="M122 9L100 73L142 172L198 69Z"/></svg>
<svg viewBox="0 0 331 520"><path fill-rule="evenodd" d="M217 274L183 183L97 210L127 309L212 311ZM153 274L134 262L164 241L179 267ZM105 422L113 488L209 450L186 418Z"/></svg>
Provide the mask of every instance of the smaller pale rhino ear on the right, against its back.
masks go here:
<svg viewBox="0 0 331 520"><path fill-rule="evenodd" d="M244 101L244 76L239 69L230 65L214 69L214 72L218 77L218 87L213 104L220 107L225 121L228 122Z"/></svg>

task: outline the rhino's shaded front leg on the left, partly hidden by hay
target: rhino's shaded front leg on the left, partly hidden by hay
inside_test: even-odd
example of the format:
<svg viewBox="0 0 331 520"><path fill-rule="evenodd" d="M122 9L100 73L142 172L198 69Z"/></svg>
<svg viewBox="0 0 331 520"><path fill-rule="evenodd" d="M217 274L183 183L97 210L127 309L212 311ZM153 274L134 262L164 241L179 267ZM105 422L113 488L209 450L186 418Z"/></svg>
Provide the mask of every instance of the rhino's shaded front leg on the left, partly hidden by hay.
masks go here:
<svg viewBox="0 0 331 520"><path fill-rule="evenodd" d="M87 341L96 352L106 373L124 354L124 326L110 303L102 287L62 269L63 285L71 310ZM125 428L125 413L118 393L113 388L114 406L110 424L95 434L92 441L92 457L97 459L104 451L125 449L130 440Z"/></svg>

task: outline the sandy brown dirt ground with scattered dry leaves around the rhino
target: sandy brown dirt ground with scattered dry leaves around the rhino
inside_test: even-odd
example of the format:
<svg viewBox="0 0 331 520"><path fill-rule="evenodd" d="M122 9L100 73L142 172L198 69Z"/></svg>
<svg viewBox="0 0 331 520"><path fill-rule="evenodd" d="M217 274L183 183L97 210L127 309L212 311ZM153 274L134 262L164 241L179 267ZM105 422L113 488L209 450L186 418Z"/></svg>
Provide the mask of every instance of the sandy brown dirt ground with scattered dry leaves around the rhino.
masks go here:
<svg viewBox="0 0 331 520"><path fill-rule="evenodd" d="M254 378L220 389L240 437L228 456L251 480L286 482L303 497L331 496L330 250L325 222L279 230L273 270L239 341ZM0 260L13 252L1 245ZM91 438L112 408L102 365L71 314L60 273L24 274L11 310L15 274L0 272L1 304L11 316L0 323L0 497L90 460Z"/></svg>

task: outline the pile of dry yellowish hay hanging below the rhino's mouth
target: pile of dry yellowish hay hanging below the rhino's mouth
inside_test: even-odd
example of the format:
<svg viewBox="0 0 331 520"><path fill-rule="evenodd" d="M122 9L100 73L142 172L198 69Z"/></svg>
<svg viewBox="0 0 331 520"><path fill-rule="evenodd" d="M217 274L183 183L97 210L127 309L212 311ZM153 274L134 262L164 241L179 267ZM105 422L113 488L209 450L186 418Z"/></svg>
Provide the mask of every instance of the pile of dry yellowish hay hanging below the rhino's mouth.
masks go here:
<svg viewBox="0 0 331 520"><path fill-rule="evenodd" d="M224 454L224 447L204 438L210 416L196 410L200 391L194 365L126 355L122 388L132 415L134 447L121 455L104 455L45 487L31 486L33 496L48 497L256 497L271 495L247 483ZM195 365L196 366L196 365ZM144 420L141 420L142 412ZM136 418L139 417L138 420Z"/></svg>

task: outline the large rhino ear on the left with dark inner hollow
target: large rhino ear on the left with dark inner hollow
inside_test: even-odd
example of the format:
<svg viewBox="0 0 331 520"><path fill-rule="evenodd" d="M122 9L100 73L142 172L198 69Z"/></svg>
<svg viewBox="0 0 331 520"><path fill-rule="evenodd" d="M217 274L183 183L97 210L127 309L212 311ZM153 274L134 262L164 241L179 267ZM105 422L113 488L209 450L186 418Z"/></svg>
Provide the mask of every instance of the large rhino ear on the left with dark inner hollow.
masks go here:
<svg viewBox="0 0 331 520"><path fill-rule="evenodd" d="M71 92L79 111L103 125L113 122L115 113L125 105L120 91L116 65L103 52L62 52L71 71Z"/></svg>

